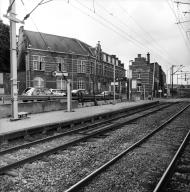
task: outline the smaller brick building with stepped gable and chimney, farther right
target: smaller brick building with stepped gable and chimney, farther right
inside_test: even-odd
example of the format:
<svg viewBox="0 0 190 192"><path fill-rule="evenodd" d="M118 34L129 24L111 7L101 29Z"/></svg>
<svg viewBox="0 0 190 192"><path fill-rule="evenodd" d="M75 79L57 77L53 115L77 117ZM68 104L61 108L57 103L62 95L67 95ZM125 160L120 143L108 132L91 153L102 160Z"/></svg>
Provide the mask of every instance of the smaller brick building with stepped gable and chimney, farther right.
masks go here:
<svg viewBox="0 0 190 192"><path fill-rule="evenodd" d="M132 94L134 97L147 98L149 95L158 97L160 93L163 95L166 75L157 62L150 62L149 53L146 58L138 54L129 69L132 71Z"/></svg>

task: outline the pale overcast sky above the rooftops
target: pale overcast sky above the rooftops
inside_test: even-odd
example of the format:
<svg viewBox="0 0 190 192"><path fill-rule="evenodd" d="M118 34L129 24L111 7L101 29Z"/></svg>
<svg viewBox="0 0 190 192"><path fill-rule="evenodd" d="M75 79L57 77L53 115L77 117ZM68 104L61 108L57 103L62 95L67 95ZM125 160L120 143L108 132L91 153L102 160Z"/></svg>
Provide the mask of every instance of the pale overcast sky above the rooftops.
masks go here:
<svg viewBox="0 0 190 192"><path fill-rule="evenodd" d="M190 3L190 0L180 0ZM23 20L41 0L15 0L17 18ZM125 68L137 54L158 62L169 79L174 72L190 72L190 4L174 0L45 0L25 20L24 28L79 39L116 55ZM9 24L8 0L0 0L0 18ZM177 22L182 22L177 24ZM21 25L17 24L18 29ZM188 32L189 31L189 32ZM174 83L177 83L174 76ZM188 77L188 76L187 76ZM189 74L190 77L190 74ZM178 79L178 83L187 81ZM190 83L190 80L189 80Z"/></svg>

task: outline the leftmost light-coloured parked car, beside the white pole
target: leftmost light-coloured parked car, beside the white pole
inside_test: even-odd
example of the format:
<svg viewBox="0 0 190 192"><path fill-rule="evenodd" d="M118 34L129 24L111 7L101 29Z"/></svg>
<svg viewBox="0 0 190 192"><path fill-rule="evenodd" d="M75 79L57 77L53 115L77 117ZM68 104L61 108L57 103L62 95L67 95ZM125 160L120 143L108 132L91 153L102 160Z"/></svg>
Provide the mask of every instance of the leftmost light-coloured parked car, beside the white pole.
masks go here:
<svg viewBox="0 0 190 192"><path fill-rule="evenodd" d="M37 87L28 87L26 88L23 93L23 96L45 96L45 95L52 95L51 91L48 88L37 88Z"/></svg>

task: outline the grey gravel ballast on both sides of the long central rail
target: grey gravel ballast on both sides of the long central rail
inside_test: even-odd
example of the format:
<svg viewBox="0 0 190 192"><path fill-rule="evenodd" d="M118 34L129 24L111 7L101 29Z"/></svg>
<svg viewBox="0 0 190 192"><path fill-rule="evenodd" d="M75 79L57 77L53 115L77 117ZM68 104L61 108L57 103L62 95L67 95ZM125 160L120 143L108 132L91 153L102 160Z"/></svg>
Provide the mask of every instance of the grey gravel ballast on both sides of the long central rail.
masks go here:
<svg viewBox="0 0 190 192"><path fill-rule="evenodd" d="M178 108L175 110L177 111ZM31 164L25 164L22 168L12 170L15 173L14 176L0 176L0 190L3 192L64 191L142 138L160 124L168 114L169 112L159 113L156 121L153 120L156 115L151 115L137 123L107 133L106 138L94 138L79 146L59 151ZM176 139L180 141L183 136L181 129L176 129L175 133L169 131L167 134L169 133L171 134L170 142L168 140L164 142L166 132L163 132L163 135L158 135L156 144L152 140L151 145L145 144L131 152L114 165L116 168L110 168L85 190L122 191L125 186L127 191L150 190L176 149ZM154 162L157 163L156 168ZM136 186L135 189L134 186Z"/></svg>

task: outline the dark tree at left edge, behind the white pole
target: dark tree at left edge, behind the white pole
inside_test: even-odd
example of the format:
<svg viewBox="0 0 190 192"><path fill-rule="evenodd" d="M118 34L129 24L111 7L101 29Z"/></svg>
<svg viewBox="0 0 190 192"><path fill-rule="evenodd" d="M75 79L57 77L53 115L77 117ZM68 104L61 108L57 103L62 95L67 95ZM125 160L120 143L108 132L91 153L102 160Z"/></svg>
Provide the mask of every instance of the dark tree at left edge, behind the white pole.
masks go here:
<svg viewBox="0 0 190 192"><path fill-rule="evenodd" d="M0 21L0 72L10 72L9 26Z"/></svg>

